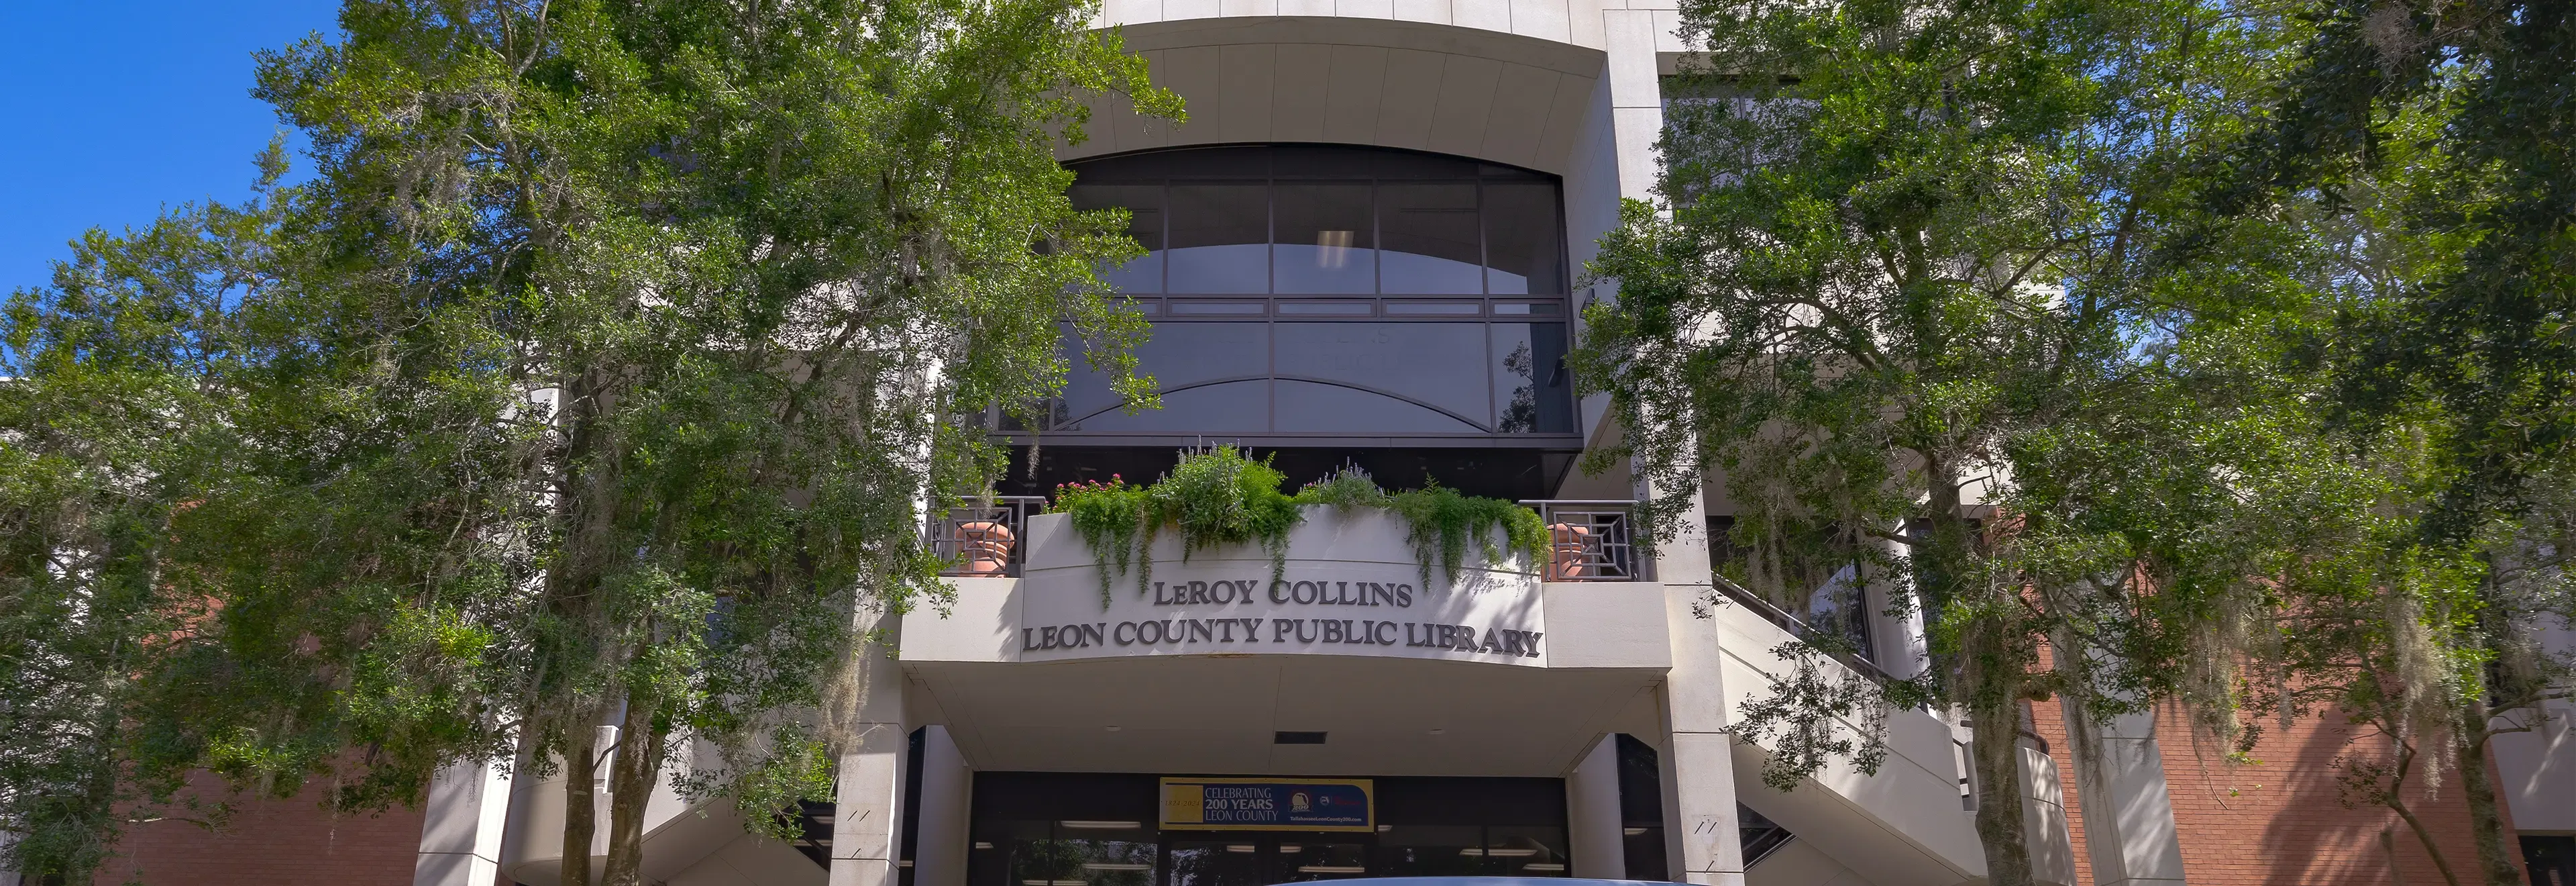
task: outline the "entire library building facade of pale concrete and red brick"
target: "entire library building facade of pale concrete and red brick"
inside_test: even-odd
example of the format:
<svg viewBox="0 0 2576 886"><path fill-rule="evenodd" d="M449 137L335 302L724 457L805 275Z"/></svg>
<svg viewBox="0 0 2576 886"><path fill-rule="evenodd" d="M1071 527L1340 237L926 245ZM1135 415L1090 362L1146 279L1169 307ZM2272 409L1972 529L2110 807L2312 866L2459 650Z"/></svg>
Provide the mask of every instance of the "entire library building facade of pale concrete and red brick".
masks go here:
<svg viewBox="0 0 2576 886"><path fill-rule="evenodd" d="M1862 649L1844 667L1906 677L1922 626L1875 590L1839 613L1731 592L1705 536L1646 556L1625 543L1646 489L1574 469L1620 433L1561 355L1602 296L1574 286L1592 242L1654 185L1662 77L1685 49L1669 0L1108 0L1100 26L1190 106L1164 126L1103 103L1092 139L1061 149L1074 198L1131 209L1151 250L1113 276L1154 322L1141 368L1164 410L1128 415L1077 373L1046 428L999 425L1018 497L935 531L1005 543L969 559L945 610L881 623L899 657L871 670L837 801L775 842L665 788L654 881L1953 886L1984 878L1986 796L2025 801L2050 883L2439 881L2388 811L2336 804L2331 760L2367 749L2336 724L2272 734L2246 768L2174 729L2159 742L2151 716L2076 724L2105 752L2074 760L2056 703L2014 737L1899 711L1875 773L1762 786L1762 749L1726 726L1785 672L1770 649L1842 631ZM1278 582L1265 551L1185 559L1167 538L1149 582L1103 595L1095 556L1033 497L1149 479L1203 443L1291 482L1358 464L1388 487L1530 502L1582 549L1566 569L1450 582L1391 518L1314 510ZM1708 497L1708 518L1728 505ZM2566 734L2561 711L2496 755L2524 845L2558 865L2576 855ZM2022 749L2017 783L1971 783L1981 739ZM137 865L183 883L551 883L562 796L453 770L384 819L273 804L232 837L149 824L103 883ZM2465 865L2455 804L2421 816ZM2540 868L2535 883L2576 883Z"/></svg>

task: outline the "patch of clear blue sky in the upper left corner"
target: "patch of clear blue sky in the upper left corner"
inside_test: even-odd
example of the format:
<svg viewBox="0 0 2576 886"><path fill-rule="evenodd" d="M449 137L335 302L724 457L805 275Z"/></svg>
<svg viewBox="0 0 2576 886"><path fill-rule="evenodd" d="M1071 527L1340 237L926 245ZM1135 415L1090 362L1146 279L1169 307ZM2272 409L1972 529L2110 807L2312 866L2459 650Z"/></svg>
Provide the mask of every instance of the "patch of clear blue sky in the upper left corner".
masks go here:
<svg viewBox="0 0 2576 886"><path fill-rule="evenodd" d="M278 116L250 52L337 28L337 0L0 0L0 294L67 240L250 196Z"/></svg>

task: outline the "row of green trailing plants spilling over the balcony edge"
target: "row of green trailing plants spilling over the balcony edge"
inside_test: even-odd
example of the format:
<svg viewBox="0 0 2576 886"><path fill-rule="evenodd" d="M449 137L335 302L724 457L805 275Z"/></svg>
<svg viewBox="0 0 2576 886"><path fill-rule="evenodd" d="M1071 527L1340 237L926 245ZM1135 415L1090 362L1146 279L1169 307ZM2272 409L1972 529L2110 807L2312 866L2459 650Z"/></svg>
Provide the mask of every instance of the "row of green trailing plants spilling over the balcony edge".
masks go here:
<svg viewBox="0 0 2576 886"><path fill-rule="evenodd" d="M1360 466L1342 466L1296 495L1280 492L1285 479L1267 458L1255 461L1234 446L1213 446L1182 451L1180 464L1146 487L1128 484L1118 474L1105 482L1059 484L1054 513L1066 515L1092 549L1100 564L1100 605L1108 605L1113 574L1133 572L1136 592L1154 585L1151 546L1164 528L1180 531L1182 561L1224 543L1260 543L1270 551L1270 580L1285 580L1288 533L1303 523L1306 505L1327 505L1342 515L1378 507L1404 518L1406 541L1422 564L1422 587L1432 582L1432 561L1455 585L1466 569L1468 541L1481 543L1489 561L1502 561L1507 551L1525 554L1530 564L1543 564L1548 556L1548 528L1538 513L1504 500L1458 495L1437 482L1388 495ZM1504 543L1494 543L1494 531L1502 531Z"/></svg>

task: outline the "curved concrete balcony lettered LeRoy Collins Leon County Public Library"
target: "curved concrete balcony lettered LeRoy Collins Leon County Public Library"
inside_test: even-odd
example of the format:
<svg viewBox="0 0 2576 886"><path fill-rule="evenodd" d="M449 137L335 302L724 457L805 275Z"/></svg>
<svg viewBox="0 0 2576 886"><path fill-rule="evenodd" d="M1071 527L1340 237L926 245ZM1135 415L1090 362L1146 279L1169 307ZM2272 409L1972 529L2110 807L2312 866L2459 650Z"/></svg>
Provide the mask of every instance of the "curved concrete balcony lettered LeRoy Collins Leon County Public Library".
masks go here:
<svg viewBox="0 0 2576 886"><path fill-rule="evenodd" d="M1628 580L1646 564L1602 505L1551 502L1584 528L1553 574L1471 554L1425 582L1401 518L1314 505L1280 574L1260 546L1182 556L1164 533L1149 577L1113 567L1105 590L1066 515L989 507L933 536L994 541L963 523L1018 515L1010 556L979 551L899 639L920 703L989 770L1556 773L1605 724L1651 721L1672 667L1664 587Z"/></svg>

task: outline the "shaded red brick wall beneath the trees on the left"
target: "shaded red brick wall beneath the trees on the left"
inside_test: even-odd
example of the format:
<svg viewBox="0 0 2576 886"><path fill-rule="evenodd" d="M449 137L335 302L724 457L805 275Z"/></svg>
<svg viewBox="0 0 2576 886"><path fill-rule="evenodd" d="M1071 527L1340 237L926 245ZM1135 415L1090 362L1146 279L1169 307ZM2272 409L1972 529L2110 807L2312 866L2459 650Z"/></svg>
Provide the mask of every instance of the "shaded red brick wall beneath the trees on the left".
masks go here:
<svg viewBox="0 0 2576 886"><path fill-rule="evenodd" d="M149 886L410 886L420 853L420 811L335 816L322 791L291 801L237 798L222 832L191 822L149 822L126 832L98 871L98 886L139 878Z"/></svg>

